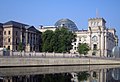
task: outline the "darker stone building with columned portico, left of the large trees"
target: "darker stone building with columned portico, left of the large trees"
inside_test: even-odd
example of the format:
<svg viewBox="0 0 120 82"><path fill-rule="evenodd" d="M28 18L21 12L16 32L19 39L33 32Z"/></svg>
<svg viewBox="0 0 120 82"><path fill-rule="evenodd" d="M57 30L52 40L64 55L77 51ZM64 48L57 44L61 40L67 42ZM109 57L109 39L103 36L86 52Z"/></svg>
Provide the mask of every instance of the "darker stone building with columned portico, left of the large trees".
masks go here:
<svg viewBox="0 0 120 82"><path fill-rule="evenodd" d="M8 21L3 24L3 47L18 51L19 44L22 43L24 51L39 51L40 35L41 33L33 26Z"/></svg>

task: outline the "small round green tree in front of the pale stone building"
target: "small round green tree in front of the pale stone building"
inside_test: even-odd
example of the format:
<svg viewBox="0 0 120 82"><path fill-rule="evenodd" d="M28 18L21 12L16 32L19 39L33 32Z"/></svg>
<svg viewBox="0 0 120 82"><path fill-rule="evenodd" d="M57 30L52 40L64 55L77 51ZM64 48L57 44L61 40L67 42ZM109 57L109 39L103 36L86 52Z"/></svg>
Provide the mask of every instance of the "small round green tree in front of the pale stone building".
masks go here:
<svg viewBox="0 0 120 82"><path fill-rule="evenodd" d="M79 54L86 55L88 53L88 51L89 51L88 44L86 44L86 43L79 44L79 46L78 46L78 52L79 52Z"/></svg>

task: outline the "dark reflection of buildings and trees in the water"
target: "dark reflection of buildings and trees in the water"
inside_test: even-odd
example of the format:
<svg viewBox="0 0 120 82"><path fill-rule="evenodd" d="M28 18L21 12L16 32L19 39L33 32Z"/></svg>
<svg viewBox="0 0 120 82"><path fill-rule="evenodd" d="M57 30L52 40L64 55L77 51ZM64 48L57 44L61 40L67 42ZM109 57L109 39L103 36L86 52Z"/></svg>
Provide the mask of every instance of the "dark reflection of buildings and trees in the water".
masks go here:
<svg viewBox="0 0 120 82"><path fill-rule="evenodd" d="M120 82L120 68L0 76L0 82Z"/></svg>

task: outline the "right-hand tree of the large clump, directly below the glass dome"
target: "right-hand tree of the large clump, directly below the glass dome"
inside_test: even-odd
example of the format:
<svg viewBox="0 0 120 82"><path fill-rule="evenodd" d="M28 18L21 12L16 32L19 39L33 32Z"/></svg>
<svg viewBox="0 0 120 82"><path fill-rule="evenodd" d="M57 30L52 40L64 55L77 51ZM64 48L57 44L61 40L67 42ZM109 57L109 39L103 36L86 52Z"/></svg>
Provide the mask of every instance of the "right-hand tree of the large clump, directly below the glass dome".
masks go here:
<svg viewBox="0 0 120 82"><path fill-rule="evenodd" d="M54 50L55 52L69 52L70 49L72 49L71 43L75 39L75 35L67 28L57 28L55 31L55 37L55 41L57 41L57 48Z"/></svg>

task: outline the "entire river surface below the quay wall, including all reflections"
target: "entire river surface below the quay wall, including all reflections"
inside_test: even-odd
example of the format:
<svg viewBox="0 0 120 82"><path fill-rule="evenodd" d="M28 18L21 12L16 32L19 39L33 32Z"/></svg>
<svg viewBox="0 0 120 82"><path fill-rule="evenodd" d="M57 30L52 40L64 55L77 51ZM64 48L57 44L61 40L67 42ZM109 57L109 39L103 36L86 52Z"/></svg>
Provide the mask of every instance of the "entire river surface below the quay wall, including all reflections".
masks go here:
<svg viewBox="0 0 120 82"><path fill-rule="evenodd" d="M120 82L120 65L0 68L0 82Z"/></svg>

